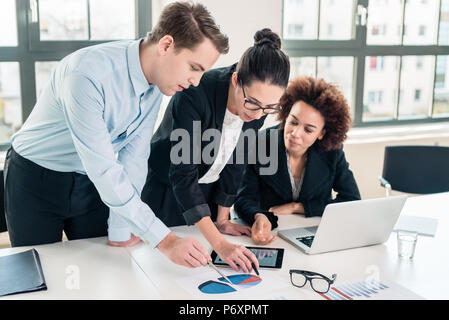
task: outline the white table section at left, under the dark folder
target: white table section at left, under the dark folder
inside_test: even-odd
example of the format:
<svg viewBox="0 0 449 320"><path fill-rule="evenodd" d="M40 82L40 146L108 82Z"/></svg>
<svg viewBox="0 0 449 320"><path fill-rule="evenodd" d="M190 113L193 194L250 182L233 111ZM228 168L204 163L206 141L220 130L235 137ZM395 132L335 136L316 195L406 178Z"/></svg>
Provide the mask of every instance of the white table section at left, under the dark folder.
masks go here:
<svg viewBox="0 0 449 320"><path fill-rule="evenodd" d="M106 238L66 241L0 250L0 256L35 248L48 290L0 299L160 299L161 296L124 248Z"/></svg>

